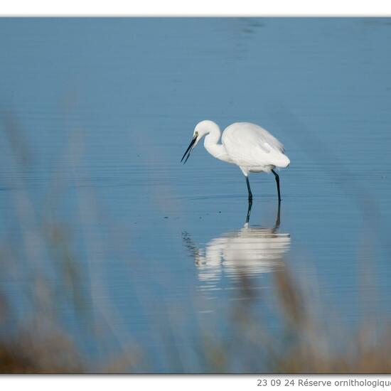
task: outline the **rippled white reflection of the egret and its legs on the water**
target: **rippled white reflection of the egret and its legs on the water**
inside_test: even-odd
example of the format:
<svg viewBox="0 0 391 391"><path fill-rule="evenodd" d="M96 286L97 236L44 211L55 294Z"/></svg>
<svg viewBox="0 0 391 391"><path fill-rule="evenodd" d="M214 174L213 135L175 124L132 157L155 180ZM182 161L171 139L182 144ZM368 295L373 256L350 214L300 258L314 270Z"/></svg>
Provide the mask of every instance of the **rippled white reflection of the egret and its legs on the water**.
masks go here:
<svg viewBox="0 0 391 391"><path fill-rule="evenodd" d="M282 266L283 255L289 251L289 233L279 233L280 203L272 227L250 226L251 203L245 225L237 231L223 233L200 248L187 232L183 241L195 260L198 280L203 289L215 290L226 277L236 282L243 276L255 277Z"/></svg>

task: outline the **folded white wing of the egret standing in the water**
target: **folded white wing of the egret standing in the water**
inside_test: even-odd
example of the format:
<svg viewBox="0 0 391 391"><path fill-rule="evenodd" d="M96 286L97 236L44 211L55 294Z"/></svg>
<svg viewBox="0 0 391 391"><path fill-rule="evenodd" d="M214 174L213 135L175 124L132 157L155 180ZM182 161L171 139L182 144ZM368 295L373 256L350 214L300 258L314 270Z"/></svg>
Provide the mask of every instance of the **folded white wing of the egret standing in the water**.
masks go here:
<svg viewBox="0 0 391 391"><path fill-rule="evenodd" d="M223 132L222 142L238 166L279 166L284 146L267 130L248 122L237 122Z"/></svg>

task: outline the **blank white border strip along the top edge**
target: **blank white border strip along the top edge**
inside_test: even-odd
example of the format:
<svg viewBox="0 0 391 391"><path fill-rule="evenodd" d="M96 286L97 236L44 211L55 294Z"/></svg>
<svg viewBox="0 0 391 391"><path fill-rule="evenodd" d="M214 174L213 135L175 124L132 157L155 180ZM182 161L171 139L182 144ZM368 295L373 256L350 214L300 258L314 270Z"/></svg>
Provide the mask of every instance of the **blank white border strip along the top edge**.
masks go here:
<svg viewBox="0 0 391 391"><path fill-rule="evenodd" d="M3 0L1 16L391 16L388 0Z"/></svg>

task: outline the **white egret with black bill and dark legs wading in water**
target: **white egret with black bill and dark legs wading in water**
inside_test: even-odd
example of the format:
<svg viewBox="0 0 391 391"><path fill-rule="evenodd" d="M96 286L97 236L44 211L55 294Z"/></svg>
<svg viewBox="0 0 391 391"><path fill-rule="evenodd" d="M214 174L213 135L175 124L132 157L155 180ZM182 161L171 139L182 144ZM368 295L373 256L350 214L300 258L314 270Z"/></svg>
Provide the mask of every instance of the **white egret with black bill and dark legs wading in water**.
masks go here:
<svg viewBox="0 0 391 391"><path fill-rule="evenodd" d="M250 122L236 122L225 128L221 144L218 144L220 134L220 128L215 122L208 120L199 122L195 126L193 139L181 159L183 161L187 154L183 164L188 160L198 141L206 136L204 146L212 156L227 163L236 164L242 170L246 178L249 203L252 203L249 173L262 171L274 174L280 202L279 176L274 168L289 166L290 161L284 154L284 146L267 130Z"/></svg>

